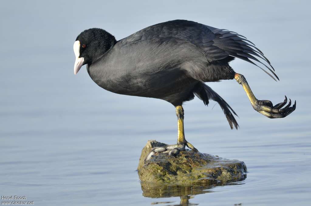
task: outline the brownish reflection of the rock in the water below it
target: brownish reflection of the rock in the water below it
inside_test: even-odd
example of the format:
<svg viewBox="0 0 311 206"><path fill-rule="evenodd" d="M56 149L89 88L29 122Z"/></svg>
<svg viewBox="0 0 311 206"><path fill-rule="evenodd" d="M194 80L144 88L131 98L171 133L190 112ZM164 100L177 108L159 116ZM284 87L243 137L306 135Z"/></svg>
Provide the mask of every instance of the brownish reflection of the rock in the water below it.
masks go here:
<svg viewBox="0 0 311 206"><path fill-rule="evenodd" d="M189 199L194 198L196 194L205 194L213 192L211 189L216 186L225 185L242 185L245 184L243 180L246 176L239 182L219 182L214 185L201 186L201 185L152 185L150 183L142 183L142 195L144 197L151 198L164 198L164 197L180 197L179 204L170 204L173 202L153 202L152 204L168 204L166 206L188 206L188 205L198 205L194 203L189 203Z"/></svg>

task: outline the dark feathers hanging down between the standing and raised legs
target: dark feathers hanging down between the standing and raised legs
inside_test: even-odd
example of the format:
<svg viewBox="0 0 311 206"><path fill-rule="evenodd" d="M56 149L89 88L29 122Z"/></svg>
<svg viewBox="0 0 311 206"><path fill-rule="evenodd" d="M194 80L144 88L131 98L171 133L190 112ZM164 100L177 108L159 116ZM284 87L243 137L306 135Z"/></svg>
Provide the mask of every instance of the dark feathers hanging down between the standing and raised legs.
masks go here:
<svg viewBox="0 0 311 206"><path fill-rule="evenodd" d="M195 94L195 96L197 96L200 100L202 100L204 102L205 105L208 105L209 100L214 100L216 102L218 102L219 106L221 107L221 109L224 111L225 116L229 122L229 125L231 127L231 129L233 129L233 125L236 129L238 129L239 124L236 122L236 120L234 119L234 115L238 116L234 110L228 105L228 103L221 98L221 96L219 96L215 91L213 91L211 89L211 87L207 86L206 84L204 84L203 82L199 82L197 84L196 89L193 91L193 93ZM233 112L233 114L231 113L231 111Z"/></svg>

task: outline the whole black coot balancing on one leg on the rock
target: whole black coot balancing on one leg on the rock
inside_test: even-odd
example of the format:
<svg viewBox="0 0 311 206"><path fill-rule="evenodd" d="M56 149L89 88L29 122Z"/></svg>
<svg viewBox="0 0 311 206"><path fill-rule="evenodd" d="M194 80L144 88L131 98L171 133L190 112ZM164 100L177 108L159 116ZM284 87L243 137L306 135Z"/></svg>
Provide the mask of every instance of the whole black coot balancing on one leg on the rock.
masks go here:
<svg viewBox="0 0 311 206"><path fill-rule="evenodd" d="M154 148L146 160L156 152L166 150L176 156L185 146L197 151L185 139L183 130L182 104L192 100L194 95L205 105L209 100L218 102L231 129L233 126L238 128L234 110L204 82L235 79L243 86L254 110L268 118L283 118L296 109L296 101L292 107L289 101L282 108L287 103L286 96L283 102L274 106L271 101L256 99L245 77L229 66L234 58L243 59L274 80L279 79L263 53L233 31L174 20L149 26L117 41L107 31L93 28L78 35L73 50L76 55L74 74L86 64L92 80L108 91L163 99L175 106L177 144Z"/></svg>

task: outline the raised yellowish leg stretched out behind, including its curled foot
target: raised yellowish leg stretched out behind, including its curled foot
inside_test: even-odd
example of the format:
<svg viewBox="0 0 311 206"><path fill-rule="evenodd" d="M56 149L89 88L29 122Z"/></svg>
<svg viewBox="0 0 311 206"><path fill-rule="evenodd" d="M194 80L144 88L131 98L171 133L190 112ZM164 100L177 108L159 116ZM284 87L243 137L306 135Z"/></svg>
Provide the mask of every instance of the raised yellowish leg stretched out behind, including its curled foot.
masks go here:
<svg viewBox="0 0 311 206"><path fill-rule="evenodd" d="M273 106L272 102L269 100L258 100L254 96L251 88L249 87L245 77L242 74L235 73L234 79L242 85L244 88L249 101L251 102L254 110L258 111L259 113L265 115L269 118L283 118L292 113L296 109L296 101L295 104L290 107L291 101L282 108L287 103L287 97L285 96L285 100L281 103L278 103Z"/></svg>

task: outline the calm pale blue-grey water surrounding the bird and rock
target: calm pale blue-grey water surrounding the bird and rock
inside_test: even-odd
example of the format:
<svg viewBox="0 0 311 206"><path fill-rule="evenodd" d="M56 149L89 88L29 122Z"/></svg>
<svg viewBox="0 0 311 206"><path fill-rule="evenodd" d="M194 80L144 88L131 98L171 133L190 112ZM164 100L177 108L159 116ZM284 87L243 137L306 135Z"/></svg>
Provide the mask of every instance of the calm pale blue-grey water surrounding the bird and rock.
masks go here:
<svg viewBox="0 0 311 206"><path fill-rule="evenodd" d="M35 205L167 206L181 199L189 205L309 205L309 6L307 1L3 3L0 194L25 195ZM248 37L281 81L243 61L231 66L244 74L258 99L278 103L287 95L297 100L297 109L287 118L268 119L252 109L234 80L208 83L238 113L240 128L230 130L220 107L212 109L214 102L206 107L195 99L184 106L186 138L201 152L244 161L247 178L150 198L136 171L140 152L148 139L175 143L174 107L104 91L85 68L74 76L72 44L90 27L121 39L172 19Z"/></svg>

